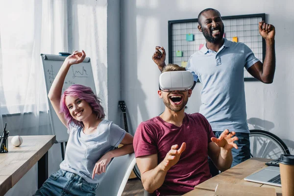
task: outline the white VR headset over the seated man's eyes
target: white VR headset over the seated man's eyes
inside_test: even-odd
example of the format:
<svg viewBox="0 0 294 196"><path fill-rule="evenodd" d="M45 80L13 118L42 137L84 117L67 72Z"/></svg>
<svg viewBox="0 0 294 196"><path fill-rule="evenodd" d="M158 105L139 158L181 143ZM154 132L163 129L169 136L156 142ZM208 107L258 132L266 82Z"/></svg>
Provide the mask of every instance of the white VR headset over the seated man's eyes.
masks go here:
<svg viewBox="0 0 294 196"><path fill-rule="evenodd" d="M162 91L187 91L193 84L193 75L188 71L164 72L159 76L159 90Z"/></svg>

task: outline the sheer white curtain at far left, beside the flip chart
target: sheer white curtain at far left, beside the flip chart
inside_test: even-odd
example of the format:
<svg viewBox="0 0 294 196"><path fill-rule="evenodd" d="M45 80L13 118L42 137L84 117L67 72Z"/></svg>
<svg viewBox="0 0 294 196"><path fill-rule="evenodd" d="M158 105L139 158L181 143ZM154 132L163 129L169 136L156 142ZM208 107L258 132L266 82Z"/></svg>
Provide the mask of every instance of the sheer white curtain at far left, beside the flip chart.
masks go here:
<svg viewBox="0 0 294 196"><path fill-rule="evenodd" d="M9 135L52 135L41 53L68 51L67 0L13 0L0 6L0 129ZM1 130L0 130L1 131ZM49 173L61 162L49 150ZM34 166L5 196L33 195Z"/></svg>

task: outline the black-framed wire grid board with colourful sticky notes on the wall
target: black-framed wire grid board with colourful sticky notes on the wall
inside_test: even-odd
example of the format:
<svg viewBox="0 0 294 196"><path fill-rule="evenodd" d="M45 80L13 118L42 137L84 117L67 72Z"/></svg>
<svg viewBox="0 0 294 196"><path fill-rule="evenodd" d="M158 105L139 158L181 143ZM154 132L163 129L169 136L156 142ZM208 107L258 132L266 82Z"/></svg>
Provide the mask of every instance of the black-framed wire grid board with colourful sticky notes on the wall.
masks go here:
<svg viewBox="0 0 294 196"><path fill-rule="evenodd" d="M258 23L266 21L266 14L250 14L221 17L224 37L230 41L245 43L261 62L266 55L266 42L259 34ZM198 30L197 19L169 21L169 63L185 67L189 57L205 44ZM245 68L244 68L245 69ZM257 80L244 70L244 80Z"/></svg>

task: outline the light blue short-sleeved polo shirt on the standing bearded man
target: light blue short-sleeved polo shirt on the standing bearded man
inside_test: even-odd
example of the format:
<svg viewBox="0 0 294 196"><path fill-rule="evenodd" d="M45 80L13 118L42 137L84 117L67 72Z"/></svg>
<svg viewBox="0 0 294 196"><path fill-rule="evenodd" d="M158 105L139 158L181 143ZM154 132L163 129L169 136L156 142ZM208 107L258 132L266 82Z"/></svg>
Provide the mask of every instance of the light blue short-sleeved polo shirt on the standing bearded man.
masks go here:
<svg viewBox="0 0 294 196"><path fill-rule="evenodd" d="M213 131L249 133L246 120L244 67L259 60L244 43L228 41L218 52L205 46L189 59L186 70L202 83L201 113Z"/></svg>

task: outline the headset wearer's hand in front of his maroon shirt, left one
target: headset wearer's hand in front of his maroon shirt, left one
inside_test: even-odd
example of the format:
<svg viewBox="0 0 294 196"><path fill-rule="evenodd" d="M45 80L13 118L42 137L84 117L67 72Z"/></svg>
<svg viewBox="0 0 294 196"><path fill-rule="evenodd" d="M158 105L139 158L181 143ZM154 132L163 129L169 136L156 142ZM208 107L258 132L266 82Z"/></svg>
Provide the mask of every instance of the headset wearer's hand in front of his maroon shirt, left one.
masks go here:
<svg viewBox="0 0 294 196"><path fill-rule="evenodd" d="M164 160L161 162L162 170L169 171L172 166L174 166L180 159L183 151L186 149L186 143L183 142L182 146L177 150L178 145L173 145L171 150L167 153Z"/></svg>

